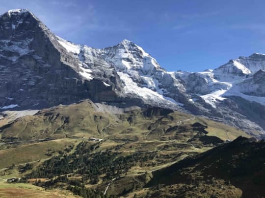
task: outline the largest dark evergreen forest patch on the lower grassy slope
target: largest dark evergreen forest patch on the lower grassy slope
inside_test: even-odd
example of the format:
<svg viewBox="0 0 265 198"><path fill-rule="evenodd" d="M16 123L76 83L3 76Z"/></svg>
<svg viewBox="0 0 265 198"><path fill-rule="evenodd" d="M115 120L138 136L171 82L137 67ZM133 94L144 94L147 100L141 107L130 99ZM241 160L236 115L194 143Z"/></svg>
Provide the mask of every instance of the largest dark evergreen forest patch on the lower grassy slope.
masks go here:
<svg viewBox="0 0 265 198"><path fill-rule="evenodd" d="M152 160L157 156L156 152L122 156L119 152L116 152L116 148L114 148L114 152L107 150L106 152L91 153L99 147L100 143L89 145L87 142L81 142L73 154L61 154L52 157L27 175L26 179L52 179L55 176L79 174L82 176L81 182L90 180L91 184L96 184L99 181L99 176L103 174L106 174L104 178L106 180L119 177L121 174L128 172L138 162ZM53 183L50 185L53 185Z"/></svg>

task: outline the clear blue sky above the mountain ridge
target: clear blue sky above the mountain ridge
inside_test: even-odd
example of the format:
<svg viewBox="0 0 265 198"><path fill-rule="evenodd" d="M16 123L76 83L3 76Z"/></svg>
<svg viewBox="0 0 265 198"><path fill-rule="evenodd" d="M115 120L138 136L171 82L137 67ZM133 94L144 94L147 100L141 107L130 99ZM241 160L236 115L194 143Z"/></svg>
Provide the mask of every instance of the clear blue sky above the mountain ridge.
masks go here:
<svg viewBox="0 0 265 198"><path fill-rule="evenodd" d="M169 71L216 68L265 54L265 0L1 0L55 34L96 48L127 39Z"/></svg>

